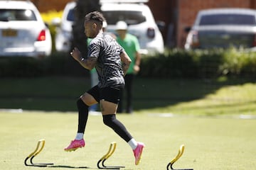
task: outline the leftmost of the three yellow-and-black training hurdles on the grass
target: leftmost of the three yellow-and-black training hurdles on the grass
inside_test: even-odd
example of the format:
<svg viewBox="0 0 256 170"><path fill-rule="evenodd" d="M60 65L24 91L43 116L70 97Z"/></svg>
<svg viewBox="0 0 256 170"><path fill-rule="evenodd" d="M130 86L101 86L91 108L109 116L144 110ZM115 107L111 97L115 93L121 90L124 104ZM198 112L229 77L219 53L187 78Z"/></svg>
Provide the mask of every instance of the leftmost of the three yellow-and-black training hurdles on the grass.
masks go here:
<svg viewBox="0 0 256 170"><path fill-rule="evenodd" d="M36 157L42 150L46 143L46 140L38 140L38 143L36 145L36 149L26 157L24 164L26 166L41 166L46 167L48 165L53 165L53 163L33 163L33 158ZM30 159L30 164L27 163L28 159Z"/></svg>

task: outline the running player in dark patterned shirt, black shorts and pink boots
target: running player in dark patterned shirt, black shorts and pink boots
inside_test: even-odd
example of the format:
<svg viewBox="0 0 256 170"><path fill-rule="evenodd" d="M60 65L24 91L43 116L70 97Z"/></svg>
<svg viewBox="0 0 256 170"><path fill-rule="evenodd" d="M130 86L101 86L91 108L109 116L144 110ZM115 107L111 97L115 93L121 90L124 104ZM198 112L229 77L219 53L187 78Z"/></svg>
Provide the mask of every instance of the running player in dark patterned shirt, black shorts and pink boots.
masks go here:
<svg viewBox="0 0 256 170"><path fill-rule="evenodd" d="M88 55L86 58L82 57L76 47L70 52L70 55L85 69L96 68L99 84L78 99L78 132L75 140L71 141L65 151L75 151L79 147L85 146L84 132L88 107L100 103L103 123L112 128L132 147L137 165L140 162L144 144L134 140L124 125L116 118L119 92L124 87L124 74L126 74L131 60L111 35L103 34L102 21L105 21L102 13L97 11L88 13L84 23L85 35L88 38L93 38L88 47Z"/></svg>

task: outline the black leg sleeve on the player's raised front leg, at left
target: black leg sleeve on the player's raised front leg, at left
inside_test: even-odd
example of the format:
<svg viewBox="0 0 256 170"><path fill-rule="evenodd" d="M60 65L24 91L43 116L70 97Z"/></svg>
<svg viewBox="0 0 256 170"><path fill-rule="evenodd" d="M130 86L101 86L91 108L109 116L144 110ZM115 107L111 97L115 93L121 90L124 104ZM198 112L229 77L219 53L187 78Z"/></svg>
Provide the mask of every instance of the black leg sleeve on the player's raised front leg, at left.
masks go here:
<svg viewBox="0 0 256 170"><path fill-rule="evenodd" d="M85 126L88 118L88 106L82 101L81 98L77 101L78 106L78 133L85 133Z"/></svg>

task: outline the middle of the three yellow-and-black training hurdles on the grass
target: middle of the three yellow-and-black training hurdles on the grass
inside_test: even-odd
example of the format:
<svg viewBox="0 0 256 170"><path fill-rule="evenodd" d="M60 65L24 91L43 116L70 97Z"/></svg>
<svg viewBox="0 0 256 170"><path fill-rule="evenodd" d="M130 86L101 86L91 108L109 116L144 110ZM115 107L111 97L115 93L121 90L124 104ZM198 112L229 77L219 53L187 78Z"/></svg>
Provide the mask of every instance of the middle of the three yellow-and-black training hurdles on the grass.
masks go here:
<svg viewBox="0 0 256 170"><path fill-rule="evenodd" d="M109 159L112 154L114 153L114 150L117 147L117 143L116 142L112 142L110 144L110 148L107 151L107 154L105 154L98 162L97 162L97 167L98 169L121 169L121 168L125 168L125 166L106 166L105 165L105 161L107 159Z"/></svg>

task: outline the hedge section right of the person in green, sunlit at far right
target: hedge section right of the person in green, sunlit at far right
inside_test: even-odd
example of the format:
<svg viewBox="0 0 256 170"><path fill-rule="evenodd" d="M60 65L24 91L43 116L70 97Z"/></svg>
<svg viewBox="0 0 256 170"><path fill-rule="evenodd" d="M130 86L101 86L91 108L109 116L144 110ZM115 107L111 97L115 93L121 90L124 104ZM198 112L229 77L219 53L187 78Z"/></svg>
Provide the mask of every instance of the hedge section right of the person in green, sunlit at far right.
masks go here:
<svg viewBox="0 0 256 170"><path fill-rule="evenodd" d="M142 59L142 77L215 78L255 77L256 53L245 50L168 50Z"/></svg>

